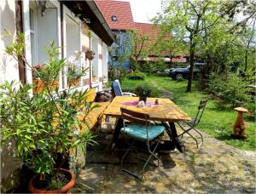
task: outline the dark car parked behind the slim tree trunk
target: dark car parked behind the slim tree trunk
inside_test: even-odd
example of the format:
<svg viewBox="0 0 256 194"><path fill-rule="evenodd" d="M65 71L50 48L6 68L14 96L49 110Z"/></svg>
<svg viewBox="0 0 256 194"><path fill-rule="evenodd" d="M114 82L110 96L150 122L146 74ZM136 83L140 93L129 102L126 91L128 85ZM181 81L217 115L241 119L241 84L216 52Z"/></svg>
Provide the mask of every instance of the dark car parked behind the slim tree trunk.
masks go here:
<svg viewBox="0 0 256 194"><path fill-rule="evenodd" d="M203 66L205 66L205 63L195 63L194 64L194 77L198 77L201 73L201 69ZM190 65L186 66L184 68L172 68L169 71L169 76L172 77L172 79L184 79L189 77L189 71L190 71Z"/></svg>

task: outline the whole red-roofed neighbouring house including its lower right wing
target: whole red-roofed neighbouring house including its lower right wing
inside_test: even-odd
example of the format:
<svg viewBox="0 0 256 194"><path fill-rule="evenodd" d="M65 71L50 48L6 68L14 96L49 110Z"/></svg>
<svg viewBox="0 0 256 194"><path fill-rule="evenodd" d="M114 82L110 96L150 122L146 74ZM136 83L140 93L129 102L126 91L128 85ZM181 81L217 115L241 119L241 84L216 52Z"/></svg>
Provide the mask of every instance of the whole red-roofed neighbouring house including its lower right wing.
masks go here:
<svg viewBox="0 0 256 194"><path fill-rule="evenodd" d="M127 44L127 31L135 30L138 34L147 34L149 40L146 41L146 53L148 58L140 59L140 61L151 61L155 62L164 59L166 63L170 63L170 54L168 51L161 54L156 54L150 50L150 47L157 41L157 37L160 34L160 26L148 23L134 22L131 13L131 5L129 2L119 2L113 0L96 0L96 3L101 9L104 18L107 20L108 25L117 35L117 42L113 43L112 50L118 50L116 53L111 53L111 60L114 65L117 65L117 56L122 54L124 49L124 43L126 48L130 48L131 44ZM118 49L116 49L118 48ZM160 57L158 57L161 55ZM172 62L186 62L184 56L177 56L172 58ZM130 60L126 60L123 64L124 67L129 67L131 64Z"/></svg>

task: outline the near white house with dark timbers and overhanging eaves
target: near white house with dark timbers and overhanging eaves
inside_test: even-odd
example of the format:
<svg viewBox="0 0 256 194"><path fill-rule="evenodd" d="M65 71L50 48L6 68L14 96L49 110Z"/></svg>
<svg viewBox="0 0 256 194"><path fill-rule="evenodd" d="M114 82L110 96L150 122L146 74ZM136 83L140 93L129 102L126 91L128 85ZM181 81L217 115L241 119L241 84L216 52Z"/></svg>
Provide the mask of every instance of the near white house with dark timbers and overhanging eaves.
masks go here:
<svg viewBox="0 0 256 194"><path fill-rule="evenodd" d="M75 51L80 51L82 53L80 66L88 67L89 70L87 75L80 79L79 88L96 88L97 91L101 91L103 83L108 81L108 46L113 43L114 34L96 3L40 0L40 3L46 2L48 5L44 10L39 7L38 1L1 1L0 34L5 33L5 28L14 35L18 31L23 32L26 60L31 65L44 64L47 61L44 47L49 46L49 41L55 41L55 45L60 47L62 59L72 56ZM90 23L84 24L83 20L75 17L78 14L80 18L89 19ZM5 54L5 48L11 42L11 38L1 36L0 84L5 81L32 83L32 71L23 68L11 56ZM85 51L88 49L95 52L91 61L85 59ZM60 90L67 88L67 76L62 72L59 77L59 88ZM20 167L20 163L8 156L9 149L13 149L11 144L3 147L1 151L1 191L3 192L19 184L15 179L19 175L17 168Z"/></svg>

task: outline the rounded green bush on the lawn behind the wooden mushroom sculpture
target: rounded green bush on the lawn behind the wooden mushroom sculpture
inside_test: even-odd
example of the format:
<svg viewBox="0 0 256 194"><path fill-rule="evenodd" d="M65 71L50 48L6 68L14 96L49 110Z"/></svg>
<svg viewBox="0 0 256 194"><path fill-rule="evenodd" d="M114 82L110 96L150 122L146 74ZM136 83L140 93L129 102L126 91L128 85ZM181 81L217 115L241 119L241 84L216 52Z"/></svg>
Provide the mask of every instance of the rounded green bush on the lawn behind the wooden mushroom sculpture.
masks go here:
<svg viewBox="0 0 256 194"><path fill-rule="evenodd" d="M247 102L250 99L247 82L236 74L212 75L209 84L210 91L226 102L235 104L236 100Z"/></svg>

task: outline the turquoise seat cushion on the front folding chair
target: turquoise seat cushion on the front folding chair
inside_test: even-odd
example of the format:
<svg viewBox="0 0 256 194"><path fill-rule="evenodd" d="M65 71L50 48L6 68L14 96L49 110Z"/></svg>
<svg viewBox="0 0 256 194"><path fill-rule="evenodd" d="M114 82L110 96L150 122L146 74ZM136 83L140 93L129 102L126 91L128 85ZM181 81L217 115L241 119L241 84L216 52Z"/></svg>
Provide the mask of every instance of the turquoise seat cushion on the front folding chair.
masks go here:
<svg viewBox="0 0 256 194"><path fill-rule="evenodd" d="M152 125L148 127L148 140L154 140L164 131L164 126ZM137 140L147 141L147 128L145 125L132 123L125 128L121 128L121 133Z"/></svg>

